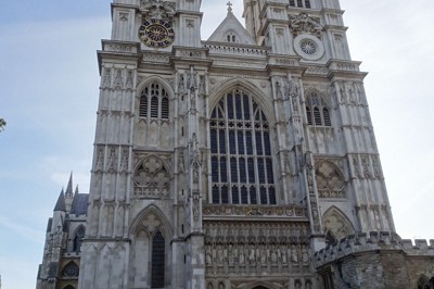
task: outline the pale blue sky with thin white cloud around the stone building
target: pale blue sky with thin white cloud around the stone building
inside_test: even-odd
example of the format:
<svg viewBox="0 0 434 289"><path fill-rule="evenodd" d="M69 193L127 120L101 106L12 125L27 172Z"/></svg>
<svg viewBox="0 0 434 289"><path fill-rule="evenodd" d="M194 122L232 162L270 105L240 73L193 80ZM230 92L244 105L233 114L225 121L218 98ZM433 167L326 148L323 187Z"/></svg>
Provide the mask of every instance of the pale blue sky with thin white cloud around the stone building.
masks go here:
<svg viewBox="0 0 434 289"><path fill-rule="evenodd" d="M74 171L88 192L98 103L95 51L110 38L110 0L14 0L0 18L0 274L36 284L47 219ZM204 0L203 38L227 1ZM232 1L240 15L242 0ZM434 1L342 0L366 90L397 231L434 238Z"/></svg>

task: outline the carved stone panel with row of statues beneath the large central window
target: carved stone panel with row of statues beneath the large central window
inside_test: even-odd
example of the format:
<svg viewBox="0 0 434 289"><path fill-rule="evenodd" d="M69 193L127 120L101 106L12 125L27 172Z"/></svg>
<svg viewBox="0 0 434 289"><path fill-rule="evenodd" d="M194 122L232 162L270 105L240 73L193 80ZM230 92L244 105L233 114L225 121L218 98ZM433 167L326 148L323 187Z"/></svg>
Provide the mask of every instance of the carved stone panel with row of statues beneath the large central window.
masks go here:
<svg viewBox="0 0 434 289"><path fill-rule="evenodd" d="M307 224L206 222L205 264L219 274L280 274L310 263Z"/></svg>

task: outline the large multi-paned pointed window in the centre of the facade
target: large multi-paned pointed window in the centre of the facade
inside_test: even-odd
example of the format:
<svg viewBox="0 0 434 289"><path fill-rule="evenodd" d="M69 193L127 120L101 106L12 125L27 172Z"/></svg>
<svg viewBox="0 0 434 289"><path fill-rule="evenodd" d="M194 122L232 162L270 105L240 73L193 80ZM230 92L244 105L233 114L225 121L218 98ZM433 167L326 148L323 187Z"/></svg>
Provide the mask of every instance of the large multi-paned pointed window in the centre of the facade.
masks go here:
<svg viewBox="0 0 434 289"><path fill-rule="evenodd" d="M209 126L213 203L276 204L270 128L259 105L234 89Z"/></svg>

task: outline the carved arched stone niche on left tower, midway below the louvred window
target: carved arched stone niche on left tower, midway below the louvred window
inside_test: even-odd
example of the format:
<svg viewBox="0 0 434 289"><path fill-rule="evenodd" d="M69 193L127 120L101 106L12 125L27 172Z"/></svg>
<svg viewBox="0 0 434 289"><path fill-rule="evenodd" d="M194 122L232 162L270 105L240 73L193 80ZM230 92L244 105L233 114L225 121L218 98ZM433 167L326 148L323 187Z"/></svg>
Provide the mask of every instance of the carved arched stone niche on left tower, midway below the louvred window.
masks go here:
<svg viewBox="0 0 434 289"><path fill-rule="evenodd" d="M161 158L150 155L136 165L133 183L135 197L164 198L169 193L170 173Z"/></svg>

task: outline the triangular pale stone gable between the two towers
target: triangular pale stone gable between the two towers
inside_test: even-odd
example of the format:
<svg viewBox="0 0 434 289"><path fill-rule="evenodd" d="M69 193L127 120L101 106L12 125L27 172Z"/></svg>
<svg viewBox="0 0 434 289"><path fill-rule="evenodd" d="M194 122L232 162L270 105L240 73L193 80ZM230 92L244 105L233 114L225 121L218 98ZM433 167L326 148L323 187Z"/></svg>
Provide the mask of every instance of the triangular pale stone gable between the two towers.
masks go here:
<svg viewBox="0 0 434 289"><path fill-rule="evenodd" d="M235 36L235 41L230 38L228 41L228 36ZM207 41L213 42L235 42L240 45L251 45L255 46L256 42L248 32L243 27L243 25L238 21L235 15L233 15L232 10L228 10L228 15L217 27L217 29L212 34Z"/></svg>

